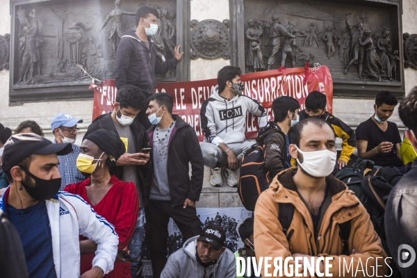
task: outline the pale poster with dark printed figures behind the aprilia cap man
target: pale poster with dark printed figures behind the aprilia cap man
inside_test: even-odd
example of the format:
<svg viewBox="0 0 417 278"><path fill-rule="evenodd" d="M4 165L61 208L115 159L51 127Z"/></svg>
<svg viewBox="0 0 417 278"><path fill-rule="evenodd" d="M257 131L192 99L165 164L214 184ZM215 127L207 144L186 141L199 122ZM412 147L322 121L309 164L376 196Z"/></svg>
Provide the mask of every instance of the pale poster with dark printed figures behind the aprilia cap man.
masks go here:
<svg viewBox="0 0 417 278"><path fill-rule="evenodd" d="M225 246L231 252L236 252L239 248L243 247L243 241L240 240L238 234L238 227L246 218L252 217L252 211L247 211L245 208L197 208L197 215L199 216L202 228L209 223L218 224L222 227L226 233ZM172 253L181 249L184 243L181 231L179 231L172 219L168 223L168 235L167 253L170 256ZM140 254L144 265L142 275L145 277L152 276L151 258L145 239L142 242L142 251Z"/></svg>

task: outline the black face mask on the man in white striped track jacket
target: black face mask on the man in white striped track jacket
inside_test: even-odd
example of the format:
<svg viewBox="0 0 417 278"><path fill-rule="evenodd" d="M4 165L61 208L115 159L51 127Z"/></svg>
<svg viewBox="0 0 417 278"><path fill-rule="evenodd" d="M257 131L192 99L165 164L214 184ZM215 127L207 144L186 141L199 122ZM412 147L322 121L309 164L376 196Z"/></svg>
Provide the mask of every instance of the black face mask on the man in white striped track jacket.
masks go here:
<svg viewBox="0 0 417 278"><path fill-rule="evenodd" d="M46 200L54 198L56 193L58 193L58 190L60 188L60 181L61 178L58 179L40 179L38 177L35 177L31 172L29 172L24 167L20 166L20 168L32 179L35 180L35 186L29 187L27 184L25 184L23 181L22 186L26 190L26 192L31 195L33 199L38 200Z"/></svg>

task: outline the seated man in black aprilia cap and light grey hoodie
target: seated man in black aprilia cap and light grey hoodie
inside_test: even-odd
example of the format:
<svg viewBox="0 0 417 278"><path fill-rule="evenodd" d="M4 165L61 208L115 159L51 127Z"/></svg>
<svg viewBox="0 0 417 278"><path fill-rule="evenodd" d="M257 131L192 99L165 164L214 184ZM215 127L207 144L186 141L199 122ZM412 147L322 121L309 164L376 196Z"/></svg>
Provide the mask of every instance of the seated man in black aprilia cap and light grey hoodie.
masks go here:
<svg viewBox="0 0 417 278"><path fill-rule="evenodd" d="M190 238L168 258L161 278L236 277L234 254L224 247L226 234L216 224L208 224L199 236Z"/></svg>

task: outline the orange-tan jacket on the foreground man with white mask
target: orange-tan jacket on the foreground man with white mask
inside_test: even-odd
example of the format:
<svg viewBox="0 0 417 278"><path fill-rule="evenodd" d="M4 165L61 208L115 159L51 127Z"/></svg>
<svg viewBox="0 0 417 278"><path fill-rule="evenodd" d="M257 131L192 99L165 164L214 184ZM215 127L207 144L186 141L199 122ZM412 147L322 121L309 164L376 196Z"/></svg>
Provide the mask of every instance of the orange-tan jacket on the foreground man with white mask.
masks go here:
<svg viewBox="0 0 417 278"><path fill-rule="evenodd" d="M386 265L386 263L389 263L389 259L386 259L386 263L384 262L386 252L382 248L381 240L373 228L366 209L354 193L332 175L326 178L332 202L325 211L318 228L318 238L315 239L313 220L309 210L300 199L293 181L295 172L297 172L296 167L280 172L256 202L254 219L256 259L259 261L261 256L272 257L272 268L269 268L268 271L270 274L274 271L273 259L275 257L283 258L282 265L284 268L284 260L287 256L301 253L309 256L332 256L332 268L330 268L332 277L370 277L373 272L375 275L376 265L379 265L378 275L389 275L390 270ZM282 231L278 220L279 203L291 203L295 207L293 220L288 228L287 235ZM339 236L338 227L338 223L347 221L351 223L348 240L349 250L356 250L357 252L357 254L351 254L350 256L341 255L343 243L341 236ZM292 236L287 240L286 236L289 234L292 234ZM380 258L376 261L377 257L383 257L384 259ZM368 258L374 259L369 259L367 262ZM353 270L351 267L350 272L347 272L347 268L345 268L345 276L343 276L343 259L347 268L350 267L351 261L353 265ZM341 260L340 273L339 260ZM294 261L291 261L291 263L294 263ZM262 264L261 270L264 275L263 268L264 264ZM359 269L358 272L356 272L357 268ZM356 276L354 276L354 272L356 272Z"/></svg>

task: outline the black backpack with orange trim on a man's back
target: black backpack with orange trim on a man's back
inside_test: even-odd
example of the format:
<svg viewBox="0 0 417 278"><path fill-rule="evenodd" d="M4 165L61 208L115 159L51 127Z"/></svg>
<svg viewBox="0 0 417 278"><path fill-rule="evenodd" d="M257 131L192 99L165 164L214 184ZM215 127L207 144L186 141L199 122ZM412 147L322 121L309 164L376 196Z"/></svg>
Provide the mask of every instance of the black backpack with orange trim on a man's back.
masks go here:
<svg viewBox="0 0 417 278"><path fill-rule="evenodd" d="M242 157L238 194L248 211L255 210L256 200L272 181L272 175L265 168L265 155L268 139L275 132L278 131L272 131L262 143L252 145Z"/></svg>

